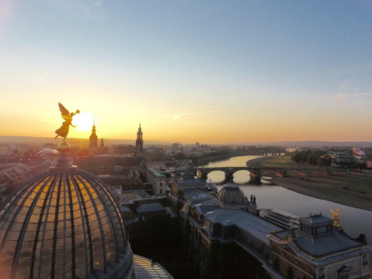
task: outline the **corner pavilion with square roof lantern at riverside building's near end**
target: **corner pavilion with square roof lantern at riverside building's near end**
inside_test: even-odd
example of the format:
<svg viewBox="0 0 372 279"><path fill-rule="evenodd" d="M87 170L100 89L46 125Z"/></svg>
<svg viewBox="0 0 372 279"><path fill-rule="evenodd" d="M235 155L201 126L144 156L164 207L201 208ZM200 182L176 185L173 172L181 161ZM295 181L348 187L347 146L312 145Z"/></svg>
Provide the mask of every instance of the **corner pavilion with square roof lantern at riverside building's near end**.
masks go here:
<svg viewBox="0 0 372 279"><path fill-rule="evenodd" d="M272 231L267 236L272 278L370 278L371 247L363 235L353 239L321 214L300 218L299 224L299 229Z"/></svg>

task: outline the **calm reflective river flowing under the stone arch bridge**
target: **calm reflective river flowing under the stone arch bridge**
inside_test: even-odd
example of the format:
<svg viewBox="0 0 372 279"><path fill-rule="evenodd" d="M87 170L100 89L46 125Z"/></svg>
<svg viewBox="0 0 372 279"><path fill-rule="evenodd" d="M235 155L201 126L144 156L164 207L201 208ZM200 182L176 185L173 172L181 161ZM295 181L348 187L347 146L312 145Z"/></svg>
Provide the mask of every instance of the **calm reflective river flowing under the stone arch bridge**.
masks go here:
<svg viewBox="0 0 372 279"><path fill-rule="evenodd" d="M248 160L259 157L262 156L237 156L210 162L199 167L243 167L246 166ZM222 171L214 171L208 175L208 179L211 179L218 186L218 189L221 189L225 174ZM365 234L368 243L372 243L371 211L301 195L270 182L262 181L261 185L248 184L249 180L248 171L238 171L234 174L234 183L240 186L247 197L250 197L251 194L256 195L258 208L282 209L299 217L307 217L310 213L322 212L323 215L330 218L331 214L328 207L333 210L341 208L343 214L340 215L340 220L345 232L354 238L358 237L359 234ZM269 179L267 180L269 181Z"/></svg>

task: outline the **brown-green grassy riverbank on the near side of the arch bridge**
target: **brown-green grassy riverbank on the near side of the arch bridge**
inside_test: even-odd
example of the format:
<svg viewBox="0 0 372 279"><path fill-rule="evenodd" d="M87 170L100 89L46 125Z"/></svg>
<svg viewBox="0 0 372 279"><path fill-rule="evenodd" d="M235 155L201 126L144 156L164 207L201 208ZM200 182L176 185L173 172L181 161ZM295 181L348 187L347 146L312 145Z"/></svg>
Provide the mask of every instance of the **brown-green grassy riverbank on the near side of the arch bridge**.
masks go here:
<svg viewBox="0 0 372 279"><path fill-rule="evenodd" d="M312 198L372 211L372 179L366 177L272 176L272 179L265 181Z"/></svg>

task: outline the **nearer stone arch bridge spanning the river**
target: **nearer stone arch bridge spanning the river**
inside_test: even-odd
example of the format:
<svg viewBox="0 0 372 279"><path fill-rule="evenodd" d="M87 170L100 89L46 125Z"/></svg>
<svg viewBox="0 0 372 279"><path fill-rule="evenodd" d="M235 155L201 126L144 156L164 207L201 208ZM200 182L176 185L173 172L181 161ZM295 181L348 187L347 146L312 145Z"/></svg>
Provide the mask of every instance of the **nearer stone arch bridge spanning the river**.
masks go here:
<svg viewBox="0 0 372 279"><path fill-rule="evenodd" d="M310 175L344 175L349 174L350 171L347 170L336 170L336 169L315 169L315 168L306 168L306 167L201 167L201 168L193 168L193 169L183 169L183 170L174 170L174 173L182 173L182 172L193 172L195 175L197 174L198 170L201 173L202 180L208 179L208 174L212 171L223 171L225 173L225 179L230 180L234 179L234 174L240 170L247 170L249 171L250 182L251 183L260 183L261 177L264 173L266 175L273 173L275 176L279 177L286 177L288 173L291 171L297 172L300 176L310 176Z"/></svg>

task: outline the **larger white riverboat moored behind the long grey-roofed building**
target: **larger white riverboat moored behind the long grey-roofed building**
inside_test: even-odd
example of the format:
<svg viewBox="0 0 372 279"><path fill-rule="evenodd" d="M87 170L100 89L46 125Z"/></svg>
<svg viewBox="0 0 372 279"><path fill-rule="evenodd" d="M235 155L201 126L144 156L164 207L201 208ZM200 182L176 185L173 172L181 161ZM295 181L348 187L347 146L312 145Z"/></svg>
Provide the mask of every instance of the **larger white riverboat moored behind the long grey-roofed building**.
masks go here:
<svg viewBox="0 0 372 279"><path fill-rule="evenodd" d="M260 209L260 217L279 227L294 229L299 227L299 217L280 209Z"/></svg>

